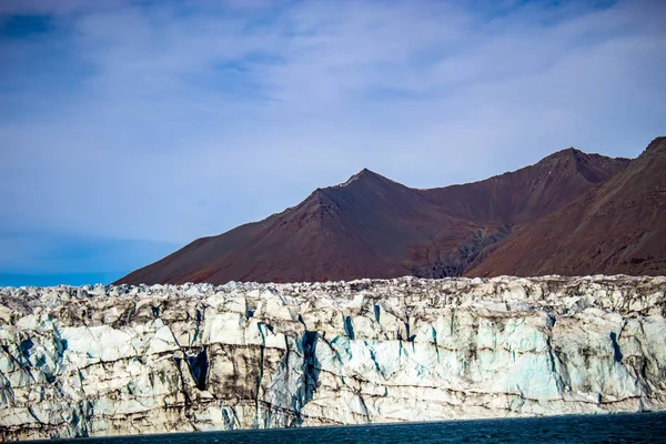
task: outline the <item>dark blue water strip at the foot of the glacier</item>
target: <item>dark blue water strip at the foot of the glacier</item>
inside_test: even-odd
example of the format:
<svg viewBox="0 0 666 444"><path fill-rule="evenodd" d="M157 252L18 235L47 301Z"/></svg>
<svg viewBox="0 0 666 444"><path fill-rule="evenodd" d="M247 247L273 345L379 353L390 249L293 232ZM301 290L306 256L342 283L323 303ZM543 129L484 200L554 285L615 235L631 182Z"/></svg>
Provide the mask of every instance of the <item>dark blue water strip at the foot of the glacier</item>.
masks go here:
<svg viewBox="0 0 666 444"><path fill-rule="evenodd" d="M666 413L571 415L344 427L201 432L170 435L56 440L77 444L167 443L666 443Z"/></svg>

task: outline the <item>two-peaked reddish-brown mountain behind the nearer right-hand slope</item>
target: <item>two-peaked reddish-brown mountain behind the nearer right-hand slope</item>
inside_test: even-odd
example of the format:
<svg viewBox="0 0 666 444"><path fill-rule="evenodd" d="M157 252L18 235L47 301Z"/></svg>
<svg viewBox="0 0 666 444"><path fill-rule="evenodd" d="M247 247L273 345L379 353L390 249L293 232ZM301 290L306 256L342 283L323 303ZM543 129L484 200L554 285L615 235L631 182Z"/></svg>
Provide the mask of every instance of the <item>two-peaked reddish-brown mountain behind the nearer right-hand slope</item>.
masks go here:
<svg viewBox="0 0 666 444"><path fill-rule="evenodd" d="M515 172L433 190L363 170L264 221L199 239L117 283L461 275L514 224L559 210L627 162L568 149Z"/></svg>

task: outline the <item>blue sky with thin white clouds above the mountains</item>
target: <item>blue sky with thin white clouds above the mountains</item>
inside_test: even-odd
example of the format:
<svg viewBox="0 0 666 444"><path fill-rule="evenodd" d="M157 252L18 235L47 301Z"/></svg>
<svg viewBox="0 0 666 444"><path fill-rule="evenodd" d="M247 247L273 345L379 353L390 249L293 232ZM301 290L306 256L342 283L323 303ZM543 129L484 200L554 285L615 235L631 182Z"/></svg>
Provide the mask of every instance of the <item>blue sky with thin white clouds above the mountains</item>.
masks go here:
<svg viewBox="0 0 666 444"><path fill-rule="evenodd" d="M369 168L666 133L666 1L0 1L0 285L110 283Z"/></svg>

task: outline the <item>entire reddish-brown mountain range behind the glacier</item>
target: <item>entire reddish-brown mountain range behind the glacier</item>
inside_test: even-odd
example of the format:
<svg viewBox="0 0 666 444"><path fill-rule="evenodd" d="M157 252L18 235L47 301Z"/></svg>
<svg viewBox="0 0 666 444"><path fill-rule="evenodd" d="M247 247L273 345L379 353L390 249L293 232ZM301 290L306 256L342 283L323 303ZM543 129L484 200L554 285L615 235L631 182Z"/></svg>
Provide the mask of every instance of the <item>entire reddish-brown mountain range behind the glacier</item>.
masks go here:
<svg viewBox="0 0 666 444"><path fill-rule="evenodd" d="M432 190L363 170L118 283L665 273L665 140L633 161L567 149Z"/></svg>

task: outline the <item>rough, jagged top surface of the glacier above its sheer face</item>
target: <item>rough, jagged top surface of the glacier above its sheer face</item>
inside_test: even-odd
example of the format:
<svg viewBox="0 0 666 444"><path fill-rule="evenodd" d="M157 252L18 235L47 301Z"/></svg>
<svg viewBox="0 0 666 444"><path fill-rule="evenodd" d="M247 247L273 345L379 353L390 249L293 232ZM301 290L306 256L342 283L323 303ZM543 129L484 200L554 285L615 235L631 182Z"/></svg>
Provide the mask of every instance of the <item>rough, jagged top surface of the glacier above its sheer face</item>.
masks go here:
<svg viewBox="0 0 666 444"><path fill-rule="evenodd" d="M666 276L588 275L537 278L446 278L440 280L404 276L389 280L362 279L335 282L256 283L228 282L154 284L154 285L59 285L51 287L0 287L0 302L13 301L13 306L52 306L71 300L94 297L141 299L169 297L202 300L212 295L224 297L243 293L341 305L360 295L384 301L414 302L421 300L432 307L471 306L480 309L504 304L506 310L544 310L558 314L579 312L588 307L618 313L645 312L660 307L666 301ZM407 301L405 301L407 300ZM92 302L92 300L91 300ZM3 303L7 306L7 303ZM4 309L8 310L8 309ZM645 313L644 313L645 314Z"/></svg>

